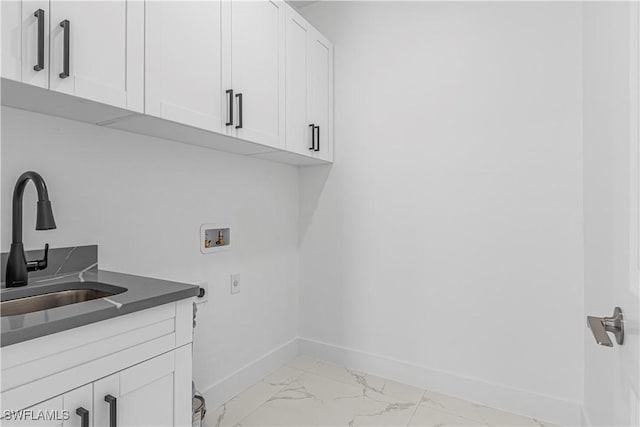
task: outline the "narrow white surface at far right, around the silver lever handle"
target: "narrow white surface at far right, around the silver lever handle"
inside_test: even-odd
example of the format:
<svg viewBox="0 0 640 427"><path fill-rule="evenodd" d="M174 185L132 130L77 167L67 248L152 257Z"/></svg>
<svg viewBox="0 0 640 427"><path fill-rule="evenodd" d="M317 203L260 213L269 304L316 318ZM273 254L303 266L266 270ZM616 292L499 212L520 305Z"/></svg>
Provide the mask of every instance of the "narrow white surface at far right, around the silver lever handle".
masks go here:
<svg viewBox="0 0 640 427"><path fill-rule="evenodd" d="M613 295L614 284L628 283L629 17L629 3L584 5L585 316L631 309ZM615 404L626 403L614 399L618 347L596 345L586 328L584 347L584 421L612 425Z"/></svg>

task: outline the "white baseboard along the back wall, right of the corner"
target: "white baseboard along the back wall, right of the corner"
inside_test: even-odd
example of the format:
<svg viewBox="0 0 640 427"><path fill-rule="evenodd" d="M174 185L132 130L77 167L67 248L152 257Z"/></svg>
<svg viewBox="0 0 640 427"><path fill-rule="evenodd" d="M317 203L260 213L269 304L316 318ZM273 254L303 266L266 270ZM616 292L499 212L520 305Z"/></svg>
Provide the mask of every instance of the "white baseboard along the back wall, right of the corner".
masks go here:
<svg viewBox="0 0 640 427"><path fill-rule="evenodd" d="M385 356L299 338L300 354L563 426L580 425L581 405Z"/></svg>

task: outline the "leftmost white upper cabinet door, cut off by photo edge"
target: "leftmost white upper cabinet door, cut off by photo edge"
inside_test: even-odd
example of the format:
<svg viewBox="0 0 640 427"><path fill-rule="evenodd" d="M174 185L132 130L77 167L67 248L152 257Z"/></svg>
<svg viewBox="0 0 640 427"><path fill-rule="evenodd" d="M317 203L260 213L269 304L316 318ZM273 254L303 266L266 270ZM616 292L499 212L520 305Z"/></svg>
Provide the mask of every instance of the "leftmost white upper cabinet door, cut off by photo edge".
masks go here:
<svg viewBox="0 0 640 427"><path fill-rule="evenodd" d="M2 77L49 87L49 0L6 0L2 8Z"/></svg>

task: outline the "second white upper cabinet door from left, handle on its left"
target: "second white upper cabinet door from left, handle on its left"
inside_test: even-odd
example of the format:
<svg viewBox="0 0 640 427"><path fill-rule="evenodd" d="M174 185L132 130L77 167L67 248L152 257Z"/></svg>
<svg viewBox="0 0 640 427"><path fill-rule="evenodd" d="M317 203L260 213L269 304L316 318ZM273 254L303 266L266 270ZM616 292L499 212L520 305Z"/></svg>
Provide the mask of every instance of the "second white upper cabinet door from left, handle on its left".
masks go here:
<svg viewBox="0 0 640 427"><path fill-rule="evenodd" d="M144 2L51 0L50 89L143 110Z"/></svg>

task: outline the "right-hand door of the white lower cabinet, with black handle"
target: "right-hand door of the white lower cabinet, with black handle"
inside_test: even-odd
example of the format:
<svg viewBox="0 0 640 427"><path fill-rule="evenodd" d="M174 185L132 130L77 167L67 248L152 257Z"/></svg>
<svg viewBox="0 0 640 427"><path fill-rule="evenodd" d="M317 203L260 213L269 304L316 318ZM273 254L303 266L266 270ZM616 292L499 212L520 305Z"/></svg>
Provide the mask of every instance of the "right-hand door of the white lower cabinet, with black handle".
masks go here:
<svg viewBox="0 0 640 427"><path fill-rule="evenodd" d="M179 357L176 357L176 352L179 350L154 357L94 382L94 426L190 425L190 419L182 419L184 415L178 419L178 415L184 413L184 408L177 408L178 402L184 400L179 399L178 394L186 393L189 405L191 402L191 388L177 388L178 384L185 382L185 373L177 363ZM188 375L190 385L191 369ZM189 406L188 411L190 410Z"/></svg>

